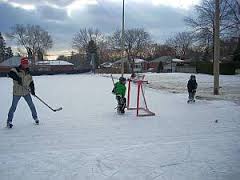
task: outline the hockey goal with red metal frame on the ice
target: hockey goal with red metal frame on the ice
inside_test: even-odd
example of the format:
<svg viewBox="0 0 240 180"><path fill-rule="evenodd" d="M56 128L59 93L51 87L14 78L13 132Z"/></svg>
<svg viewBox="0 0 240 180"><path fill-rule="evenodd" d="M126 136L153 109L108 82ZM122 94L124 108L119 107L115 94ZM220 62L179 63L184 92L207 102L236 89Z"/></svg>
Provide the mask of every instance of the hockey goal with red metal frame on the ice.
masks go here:
<svg viewBox="0 0 240 180"><path fill-rule="evenodd" d="M136 110L137 116L155 116L147 106L144 92L144 85L147 83L144 76L128 79L127 109Z"/></svg>

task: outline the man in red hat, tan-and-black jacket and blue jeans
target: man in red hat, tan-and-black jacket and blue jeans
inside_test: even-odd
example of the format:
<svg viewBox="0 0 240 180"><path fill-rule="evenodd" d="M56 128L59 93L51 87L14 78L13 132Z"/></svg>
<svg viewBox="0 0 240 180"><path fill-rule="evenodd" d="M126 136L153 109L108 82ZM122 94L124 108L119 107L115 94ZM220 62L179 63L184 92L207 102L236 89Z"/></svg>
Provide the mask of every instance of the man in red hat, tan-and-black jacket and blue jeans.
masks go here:
<svg viewBox="0 0 240 180"><path fill-rule="evenodd" d="M29 61L26 57L21 58L21 64L19 67L12 68L8 74L10 78L13 79L13 99L12 105L8 112L8 119L7 119L7 127L12 128L12 119L14 116L14 112L17 108L18 101L21 97L25 99L27 102L31 112L32 117L35 123L38 125L39 120L37 116L36 108L33 104L31 95L35 95L35 88L32 76L29 71Z"/></svg>

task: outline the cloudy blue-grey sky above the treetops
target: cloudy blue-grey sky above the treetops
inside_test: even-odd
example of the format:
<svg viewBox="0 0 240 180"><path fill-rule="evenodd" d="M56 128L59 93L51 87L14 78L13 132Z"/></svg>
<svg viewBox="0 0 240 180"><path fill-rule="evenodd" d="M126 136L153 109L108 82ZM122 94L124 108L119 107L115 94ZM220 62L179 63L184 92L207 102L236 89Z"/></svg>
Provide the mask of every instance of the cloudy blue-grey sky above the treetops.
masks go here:
<svg viewBox="0 0 240 180"><path fill-rule="evenodd" d="M152 40L163 43L187 30L183 19L200 0L125 0L125 28L144 28ZM0 32L15 24L40 25L50 33L54 56L69 54L80 28L98 28L110 35L121 28L122 0L0 0ZM16 49L16 43L5 37Z"/></svg>

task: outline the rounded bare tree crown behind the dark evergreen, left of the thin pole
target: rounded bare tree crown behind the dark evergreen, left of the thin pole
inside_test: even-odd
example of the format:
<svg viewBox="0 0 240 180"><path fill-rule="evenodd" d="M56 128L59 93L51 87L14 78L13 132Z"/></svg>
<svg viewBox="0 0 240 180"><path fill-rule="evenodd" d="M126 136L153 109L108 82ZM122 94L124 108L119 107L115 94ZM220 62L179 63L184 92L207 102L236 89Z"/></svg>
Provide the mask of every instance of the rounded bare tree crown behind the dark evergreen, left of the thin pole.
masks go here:
<svg viewBox="0 0 240 180"><path fill-rule="evenodd" d="M87 51L88 43L93 40L97 45L101 40L102 34L98 29L82 28L73 37L73 48L79 53Z"/></svg>

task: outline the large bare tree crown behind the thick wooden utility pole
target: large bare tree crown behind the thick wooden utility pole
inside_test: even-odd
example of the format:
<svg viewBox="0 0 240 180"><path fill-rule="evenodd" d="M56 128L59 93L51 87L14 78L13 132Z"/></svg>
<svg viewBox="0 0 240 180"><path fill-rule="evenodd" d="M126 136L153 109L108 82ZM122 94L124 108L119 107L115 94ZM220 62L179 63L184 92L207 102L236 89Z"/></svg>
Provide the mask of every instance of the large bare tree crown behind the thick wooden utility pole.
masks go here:
<svg viewBox="0 0 240 180"><path fill-rule="evenodd" d="M213 44L215 1L204 0L195 6L197 17L187 17L185 22L194 28L197 40L202 45ZM237 0L221 0L220 35L227 36L231 31L239 31L240 10Z"/></svg>

